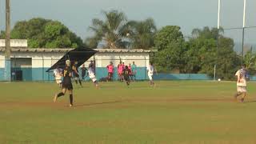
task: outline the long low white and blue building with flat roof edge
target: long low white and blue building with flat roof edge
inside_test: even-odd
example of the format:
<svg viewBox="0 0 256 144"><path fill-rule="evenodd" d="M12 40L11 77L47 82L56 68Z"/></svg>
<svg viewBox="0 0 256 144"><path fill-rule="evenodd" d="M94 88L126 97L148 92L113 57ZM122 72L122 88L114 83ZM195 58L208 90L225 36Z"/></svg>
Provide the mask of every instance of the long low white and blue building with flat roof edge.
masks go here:
<svg viewBox="0 0 256 144"><path fill-rule="evenodd" d="M42 81L53 80L53 74L47 73L46 70L53 66L58 59L62 58L64 54L72 49L28 49L24 47L16 47L11 49L11 70L12 79L19 79L24 81ZM1 48L0 41L0 80L3 80L3 73L5 67L5 48ZM146 79L146 66L150 62L151 50L110 50L110 49L96 49L98 53L90 60L96 62L96 75L98 78L107 76L106 66L113 62L114 66L118 66L120 60L126 65L135 62L138 66L138 79ZM86 66L88 66L86 62ZM115 68L116 70L116 68ZM16 75L16 76L15 76ZM117 74L114 74L117 78Z"/></svg>

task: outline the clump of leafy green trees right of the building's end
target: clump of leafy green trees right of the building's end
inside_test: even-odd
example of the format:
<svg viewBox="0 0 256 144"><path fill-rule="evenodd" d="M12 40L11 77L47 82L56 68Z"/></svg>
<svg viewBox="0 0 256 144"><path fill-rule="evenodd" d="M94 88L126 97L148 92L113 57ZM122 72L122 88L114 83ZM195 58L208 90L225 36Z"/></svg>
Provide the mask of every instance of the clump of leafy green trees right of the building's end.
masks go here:
<svg viewBox="0 0 256 144"><path fill-rule="evenodd" d="M178 26L166 26L156 34L154 44L158 54L154 61L159 70L178 70L180 73L202 73L218 78L232 79L241 66L241 58L234 52L234 41L222 35L224 31L205 27L192 32L192 38L184 41ZM217 50L218 42L218 50ZM168 69L167 69L168 70Z"/></svg>

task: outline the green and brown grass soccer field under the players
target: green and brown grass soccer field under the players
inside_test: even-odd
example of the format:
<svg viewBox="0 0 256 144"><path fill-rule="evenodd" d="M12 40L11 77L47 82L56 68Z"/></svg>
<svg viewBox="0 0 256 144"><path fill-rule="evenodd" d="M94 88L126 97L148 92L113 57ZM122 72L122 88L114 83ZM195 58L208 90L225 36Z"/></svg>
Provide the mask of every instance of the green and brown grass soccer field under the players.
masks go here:
<svg viewBox="0 0 256 144"><path fill-rule="evenodd" d="M174 81L74 85L52 102L55 83L0 83L0 143L256 143L256 83L245 103L235 82Z"/></svg>

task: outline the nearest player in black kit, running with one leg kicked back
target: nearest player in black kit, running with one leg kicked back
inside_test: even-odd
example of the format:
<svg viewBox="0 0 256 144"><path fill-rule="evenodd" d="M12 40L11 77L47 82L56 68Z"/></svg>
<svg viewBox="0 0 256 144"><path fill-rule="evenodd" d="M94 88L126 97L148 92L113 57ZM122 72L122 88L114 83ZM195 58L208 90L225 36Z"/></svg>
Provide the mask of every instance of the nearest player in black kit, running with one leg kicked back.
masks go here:
<svg viewBox="0 0 256 144"><path fill-rule="evenodd" d="M68 90L70 94L70 107L71 107L73 106L73 85L71 82L72 69L71 69L70 60L66 60L66 67L64 70L62 70L62 74L63 74L62 92L55 94L54 102L56 102L59 97L62 97L63 95L65 95L66 90Z"/></svg>

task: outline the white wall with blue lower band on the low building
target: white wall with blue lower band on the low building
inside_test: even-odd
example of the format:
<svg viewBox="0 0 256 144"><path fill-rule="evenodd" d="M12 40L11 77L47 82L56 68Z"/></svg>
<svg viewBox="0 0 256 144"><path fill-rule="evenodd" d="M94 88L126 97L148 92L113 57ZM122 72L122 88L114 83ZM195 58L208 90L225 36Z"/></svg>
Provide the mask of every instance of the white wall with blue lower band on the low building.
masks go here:
<svg viewBox="0 0 256 144"><path fill-rule="evenodd" d="M22 77L24 81L42 81L42 80L54 80L53 74L47 73L46 70L53 66L58 59L62 58L65 53L56 52L12 52L11 58L32 58L31 67L12 67L13 73L17 70L22 70ZM94 57L90 58L86 63L86 67L89 66L90 60L96 61L96 76L97 78L106 78L107 70L106 66L113 62L115 66L114 78L117 79L117 66L120 62L125 62L126 65L135 62L138 66L138 79L146 79L146 66L149 64L148 53L97 53ZM3 80L4 71L4 53L0 53L0 80Z"/></svg>

